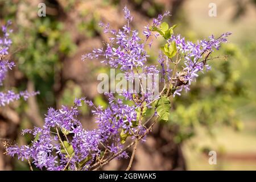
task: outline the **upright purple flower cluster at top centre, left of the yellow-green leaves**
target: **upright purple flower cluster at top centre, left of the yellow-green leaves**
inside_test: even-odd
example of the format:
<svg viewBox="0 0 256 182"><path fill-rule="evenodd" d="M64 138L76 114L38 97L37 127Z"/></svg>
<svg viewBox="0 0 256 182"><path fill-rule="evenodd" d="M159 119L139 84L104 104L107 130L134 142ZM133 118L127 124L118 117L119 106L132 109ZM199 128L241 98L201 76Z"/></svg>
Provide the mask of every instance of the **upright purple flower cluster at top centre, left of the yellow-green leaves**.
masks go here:
<svg viewBox="0 0 256 182"><path fill-rule="evenodd" d="M110 65L112 68L121 66L122 71L131 72L133 68L143 67L146 62L146 51L141 38L138 36L137 30L131 30L129 22L133 19L130 16L130 11L125 7L125 18L127 25L123 26L122 30L109 30L109 24L105 25L104 32L109 32L113 37L109 38L110 43L106 45L106 49L94 49L92 53L82 56L82 60L98 59L104 57L102 63ZM100 23L100 26L104 26Z"/></svg>

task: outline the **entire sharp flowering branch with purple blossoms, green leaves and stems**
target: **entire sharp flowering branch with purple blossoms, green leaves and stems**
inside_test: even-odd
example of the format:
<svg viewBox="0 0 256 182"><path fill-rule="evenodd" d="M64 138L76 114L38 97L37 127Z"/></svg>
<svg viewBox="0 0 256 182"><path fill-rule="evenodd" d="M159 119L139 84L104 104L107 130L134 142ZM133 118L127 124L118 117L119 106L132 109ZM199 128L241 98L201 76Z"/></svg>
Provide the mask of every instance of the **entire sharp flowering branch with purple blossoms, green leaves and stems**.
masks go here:
<svg viewBox="0 0 256 182"><path fill-rule="evenodd" d="M168 121L171 107L168 97L180 96L183 89L189 90L198 73L210 68L207 64L210 53L227 42L226 37L230 35L222 34L217 39L210 36L209 40L198 43L185 42L180 35L173 35L174 27L169 28L167 23L162 23L164 16L170 15L167 12L154 19L151 27L146 27L143 31L146 39L143 40L137 30L131 30L133 18L130 11L127 7L123 11L127 24L116 31L111 30L109 24L100 22L104 32L112 37L105 48L94 49L92 53L83 55L82 60L103 59L102 63L121 69L126 78L132 80L138 78L141 81L145 75L160 73L160 82L164 83L162 91L152 97L154 89L151 88L158 86L159 81L154 80L151 88L146 90L140 82L139 92L123 90L118 97L105 93L109 101L106 109L85 98L76 99L72 107L49 108L43 128L22 131L22 134L34 137L31 144L19 147L6 143L6 154L31 160L35 167L47 170L97 170L112 159L128 158L126 150L136 146L139 140L145 141L159 118ZM149 53L145 45L151 35L162 35L166 39L156 61L159 63L157 66L147 62ZM177 70L177 64L183 69ZM15 100L15 94L12 97ZM126 104L126 101L131 102ZM78 119L79 106L83 104L92 107L97 123L93 130L84 129Z"/></svg>

